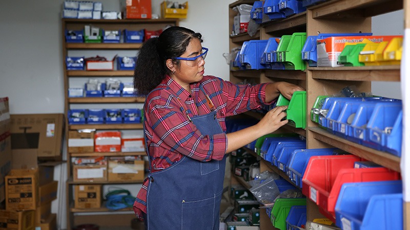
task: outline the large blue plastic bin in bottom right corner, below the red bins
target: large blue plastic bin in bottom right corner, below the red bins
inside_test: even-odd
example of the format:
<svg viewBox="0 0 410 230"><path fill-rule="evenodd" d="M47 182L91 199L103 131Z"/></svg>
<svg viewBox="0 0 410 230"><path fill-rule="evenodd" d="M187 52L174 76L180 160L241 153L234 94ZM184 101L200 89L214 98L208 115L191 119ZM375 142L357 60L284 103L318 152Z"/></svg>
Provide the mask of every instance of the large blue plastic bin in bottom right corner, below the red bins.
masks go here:
<svg viewBox="0 0 410 230"><path fill-rule="evenodd" d="M344 183L336 202L336 225L351 230L403 229L402 182Z"/></svg>

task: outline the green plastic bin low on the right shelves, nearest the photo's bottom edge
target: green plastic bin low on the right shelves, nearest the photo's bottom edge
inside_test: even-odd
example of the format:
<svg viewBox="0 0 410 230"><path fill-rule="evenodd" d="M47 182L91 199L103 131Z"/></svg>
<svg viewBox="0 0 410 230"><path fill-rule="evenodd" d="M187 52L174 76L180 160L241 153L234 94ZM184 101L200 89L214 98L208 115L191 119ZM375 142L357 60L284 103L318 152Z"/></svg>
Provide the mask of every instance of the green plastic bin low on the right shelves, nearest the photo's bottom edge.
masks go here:
<svg viewBox="0 0 410 230"><path fill-rule="evenodd" d="M292 206L306 205L306 198L278 198L272 207L271 221L274 227L286 230L286 218Z"/></svg>

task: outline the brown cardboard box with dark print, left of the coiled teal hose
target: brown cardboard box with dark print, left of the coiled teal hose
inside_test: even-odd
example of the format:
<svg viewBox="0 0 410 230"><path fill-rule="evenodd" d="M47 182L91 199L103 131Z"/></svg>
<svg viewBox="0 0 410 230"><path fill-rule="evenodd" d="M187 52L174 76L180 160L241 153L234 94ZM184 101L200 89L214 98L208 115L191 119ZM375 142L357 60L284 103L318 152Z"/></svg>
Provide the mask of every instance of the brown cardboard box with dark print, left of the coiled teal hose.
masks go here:
<svg viewBox="0 0 410 230"><path fill-rule="evenodd" d="M76 185L74 186L74 208L100 208L101 196L101 185Z"/></svg>

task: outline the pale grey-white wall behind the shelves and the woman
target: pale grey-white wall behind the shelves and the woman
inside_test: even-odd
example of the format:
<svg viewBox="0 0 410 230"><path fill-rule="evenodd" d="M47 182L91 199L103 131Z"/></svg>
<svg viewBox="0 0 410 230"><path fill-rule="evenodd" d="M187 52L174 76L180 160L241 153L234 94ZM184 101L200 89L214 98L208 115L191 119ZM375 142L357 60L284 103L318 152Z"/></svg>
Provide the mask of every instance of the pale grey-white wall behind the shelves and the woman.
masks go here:
<svg viewBox="0 0 410 230"><path fill-rule="evenodd" d="M104 10L119 11L125 5L125 0L98 2L103 3ZM160 14L161 2L152 0L154 14ZM206 74L226 80L229 80L229 66L222 54L229 52L228 5L233 2L190 0L188 18L180 21L180 26L200 32L204 47L210 49ZM9 97L12 114L64 112L62 3L63 0L0 1L0 97ZM372 31L375 35L402 34L402 18L403 11L375 17ZM400 98L398 84L375 82L373 93ZM63 186L65 173L65 167L56 167L55 179ZM59 226L66 228L65 189L59 191L53 212L59 210Z"/></svg>

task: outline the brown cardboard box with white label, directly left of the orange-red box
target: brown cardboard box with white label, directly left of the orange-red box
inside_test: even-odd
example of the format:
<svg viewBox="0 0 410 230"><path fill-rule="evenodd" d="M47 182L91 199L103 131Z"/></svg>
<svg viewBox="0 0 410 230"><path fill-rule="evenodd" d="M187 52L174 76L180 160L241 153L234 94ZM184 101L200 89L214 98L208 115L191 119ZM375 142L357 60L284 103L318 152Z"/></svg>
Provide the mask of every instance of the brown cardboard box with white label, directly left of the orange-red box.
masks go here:
<svg viewBox="0 0 410 230"><path fill-rule="evenodd" d="M68 132L68 152L87 153L94 152L95 131L73 130Z"/></svg>

